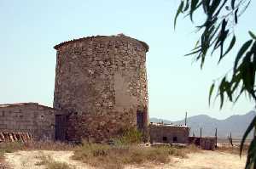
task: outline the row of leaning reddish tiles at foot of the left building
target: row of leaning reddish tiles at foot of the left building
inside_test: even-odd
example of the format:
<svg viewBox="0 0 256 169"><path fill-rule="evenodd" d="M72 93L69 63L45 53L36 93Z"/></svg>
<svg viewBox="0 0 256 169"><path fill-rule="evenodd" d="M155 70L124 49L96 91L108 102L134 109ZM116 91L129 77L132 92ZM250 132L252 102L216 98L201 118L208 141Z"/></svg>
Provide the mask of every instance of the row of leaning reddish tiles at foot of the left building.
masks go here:
<svg viewBox="0 0 256 169"><path fill-rule="evenodd" d="M29 132L0 132L0 143L20 141L26 143L32 140L32 134Z"/></svg>

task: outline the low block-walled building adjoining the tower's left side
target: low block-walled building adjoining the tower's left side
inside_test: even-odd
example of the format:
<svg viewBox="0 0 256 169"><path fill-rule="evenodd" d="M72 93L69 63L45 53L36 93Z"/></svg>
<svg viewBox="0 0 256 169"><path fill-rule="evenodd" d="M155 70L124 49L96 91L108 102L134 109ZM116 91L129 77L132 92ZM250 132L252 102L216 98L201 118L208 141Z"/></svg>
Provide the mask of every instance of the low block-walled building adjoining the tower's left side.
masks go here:
<svg viewBox="0 0 256 169"><path fill-rule="evenodd" d="M0 105L0 132L29 132L34 140L54 140L55 110L39 104Z"/></svg>

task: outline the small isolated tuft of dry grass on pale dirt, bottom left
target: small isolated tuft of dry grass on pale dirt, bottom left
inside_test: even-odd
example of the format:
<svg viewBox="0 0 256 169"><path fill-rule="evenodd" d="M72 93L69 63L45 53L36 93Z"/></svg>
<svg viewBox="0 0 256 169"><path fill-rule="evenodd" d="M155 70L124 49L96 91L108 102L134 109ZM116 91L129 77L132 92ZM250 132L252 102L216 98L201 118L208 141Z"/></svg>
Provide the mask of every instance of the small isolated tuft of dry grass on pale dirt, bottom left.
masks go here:
<svg viewBox="0 0 256 169"><path fill-rule="evenodd" d="M57 162L54 161L49 156L39 156L38 159L40 160L35 165L36 166L46 166L47 169L75 169L74 166L69 166L66 162Z"/></svg>

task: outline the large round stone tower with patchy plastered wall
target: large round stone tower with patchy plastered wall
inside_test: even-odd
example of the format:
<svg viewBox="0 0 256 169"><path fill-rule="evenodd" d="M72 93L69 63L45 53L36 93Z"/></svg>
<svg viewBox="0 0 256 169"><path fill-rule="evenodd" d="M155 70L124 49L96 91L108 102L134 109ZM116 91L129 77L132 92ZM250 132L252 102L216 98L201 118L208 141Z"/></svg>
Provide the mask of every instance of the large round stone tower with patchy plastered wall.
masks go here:
<svg viewBox="0 0 256 169"><path fill-rule="evenodd" d="M120 34L74 39L54 48L54 108L65 112L67 140L104 142L131 127L147 138L145 42Z"/></svg>

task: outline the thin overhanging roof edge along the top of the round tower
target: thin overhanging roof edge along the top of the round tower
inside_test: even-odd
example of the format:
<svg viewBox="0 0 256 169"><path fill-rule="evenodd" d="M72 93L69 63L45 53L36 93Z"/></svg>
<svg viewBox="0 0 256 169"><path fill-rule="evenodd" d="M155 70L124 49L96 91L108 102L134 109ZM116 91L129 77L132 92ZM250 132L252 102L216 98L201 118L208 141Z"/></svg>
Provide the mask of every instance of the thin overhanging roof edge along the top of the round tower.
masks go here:
<svg viewBox="0 0 256 169"><path fill-rule="evenodd" d="M61 46L66 45L66 44L71 43L71 42L82 42L82 41L84 41L84 40L93 40L93 39L102 38L102 37L106 37L106 38L119 37L120 39L127 39L127 38L128 38L128 39L131 39L131 40L133 40L133 41L137 41L137 42L141 43L141 44L143 45L143 47L145 48L146 52L148 52L148 48L149 48L149 47L148 47L148 44L147 44L146 42L139 41L139 40L137 40L137 39L135 39L135 38L132 38L132 37L127 37L127 36L125 36L124 34L119 34L119 35L117 35L117 36L96 36L96 37L92 36L92 37L82 37L82 38L79 38L79 39L73 39L73 40L70 40L70 41L61 42L60 44L55 45L54 48L55 48L56 50L58 50L58 48L60 48Z"/></svg>

